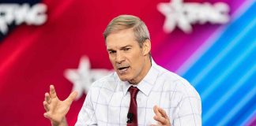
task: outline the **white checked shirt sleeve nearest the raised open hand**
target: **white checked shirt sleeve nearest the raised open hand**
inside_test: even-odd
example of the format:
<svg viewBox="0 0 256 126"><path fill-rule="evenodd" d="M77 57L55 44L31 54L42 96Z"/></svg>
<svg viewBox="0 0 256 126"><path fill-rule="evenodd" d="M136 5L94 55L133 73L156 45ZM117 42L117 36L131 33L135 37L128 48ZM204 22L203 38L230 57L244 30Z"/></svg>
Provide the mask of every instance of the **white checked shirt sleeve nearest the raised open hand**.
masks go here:
<svg viewBox="0 0 256 126"><path fill-rule="evenodd" d="M92 90L88 91L85 102L78 114L75 126L97 125L95 109L92 103Z"/></svg>

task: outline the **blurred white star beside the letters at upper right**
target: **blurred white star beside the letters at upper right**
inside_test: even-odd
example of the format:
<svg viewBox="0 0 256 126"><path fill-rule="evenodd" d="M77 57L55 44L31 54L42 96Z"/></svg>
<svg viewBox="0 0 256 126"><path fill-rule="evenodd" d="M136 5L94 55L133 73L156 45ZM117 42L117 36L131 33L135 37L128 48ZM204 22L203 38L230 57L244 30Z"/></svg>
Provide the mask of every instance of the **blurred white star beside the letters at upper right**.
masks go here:
<svg viewBox="0 0 256 126"><path fill-rule="evenodd" d="M157 9L165 16L164 31L170 33L177 25L186 33L192 31L190 22L186 19L183 10L183 0L172 0L171 2L160 2Z"/></svg>

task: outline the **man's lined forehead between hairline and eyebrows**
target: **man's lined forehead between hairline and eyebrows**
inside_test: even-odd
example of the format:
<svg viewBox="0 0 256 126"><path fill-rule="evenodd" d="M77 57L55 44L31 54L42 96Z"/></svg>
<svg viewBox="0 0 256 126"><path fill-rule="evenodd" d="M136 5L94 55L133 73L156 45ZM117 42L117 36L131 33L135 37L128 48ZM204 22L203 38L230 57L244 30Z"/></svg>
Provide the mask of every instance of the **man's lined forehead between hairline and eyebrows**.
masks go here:
<svg viewBox="0 0 256 126"><path fill-rule="evenodd" d="M106 39L107 48L119 48L127 45L133 46L134 44L137 44L137 41L135 40L132 28L111 33Z"/></svg>

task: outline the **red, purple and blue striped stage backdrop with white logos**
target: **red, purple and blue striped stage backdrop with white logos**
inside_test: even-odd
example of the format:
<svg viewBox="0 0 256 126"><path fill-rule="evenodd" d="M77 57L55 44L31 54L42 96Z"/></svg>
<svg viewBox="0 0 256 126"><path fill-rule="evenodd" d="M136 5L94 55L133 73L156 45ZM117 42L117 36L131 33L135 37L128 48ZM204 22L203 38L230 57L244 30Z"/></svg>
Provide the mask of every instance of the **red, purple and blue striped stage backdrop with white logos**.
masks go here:
<svg viewBox="0 0 256 126"><path fill-rule="evenodd" d="M255 125L255 13L254 0L1 0L0 125L50 125L50 84L61 99L79 91L75 124L90 84L112 70L102 33L120 14L141 17L156 63L198 90L203 125Z"/></svg>

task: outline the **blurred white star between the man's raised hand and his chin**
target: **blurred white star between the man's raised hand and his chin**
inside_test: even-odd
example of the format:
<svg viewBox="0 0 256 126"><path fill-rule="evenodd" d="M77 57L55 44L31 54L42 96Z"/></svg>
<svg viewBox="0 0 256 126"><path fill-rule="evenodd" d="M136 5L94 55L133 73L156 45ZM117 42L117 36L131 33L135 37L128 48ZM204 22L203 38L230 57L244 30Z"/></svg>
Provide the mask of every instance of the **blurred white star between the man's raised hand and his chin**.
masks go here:
<svg viewBox="0 0 256 126"><path fill-rule="evenodd" d="M78 69L66 69L64 76L73 83L72 91L77 91L76 100L78 100L81 98L81 95L88 92L95 80L99 80L111 72L113 72L113 70L91 69L88 57L83 56L81 57Z"/></svg>

